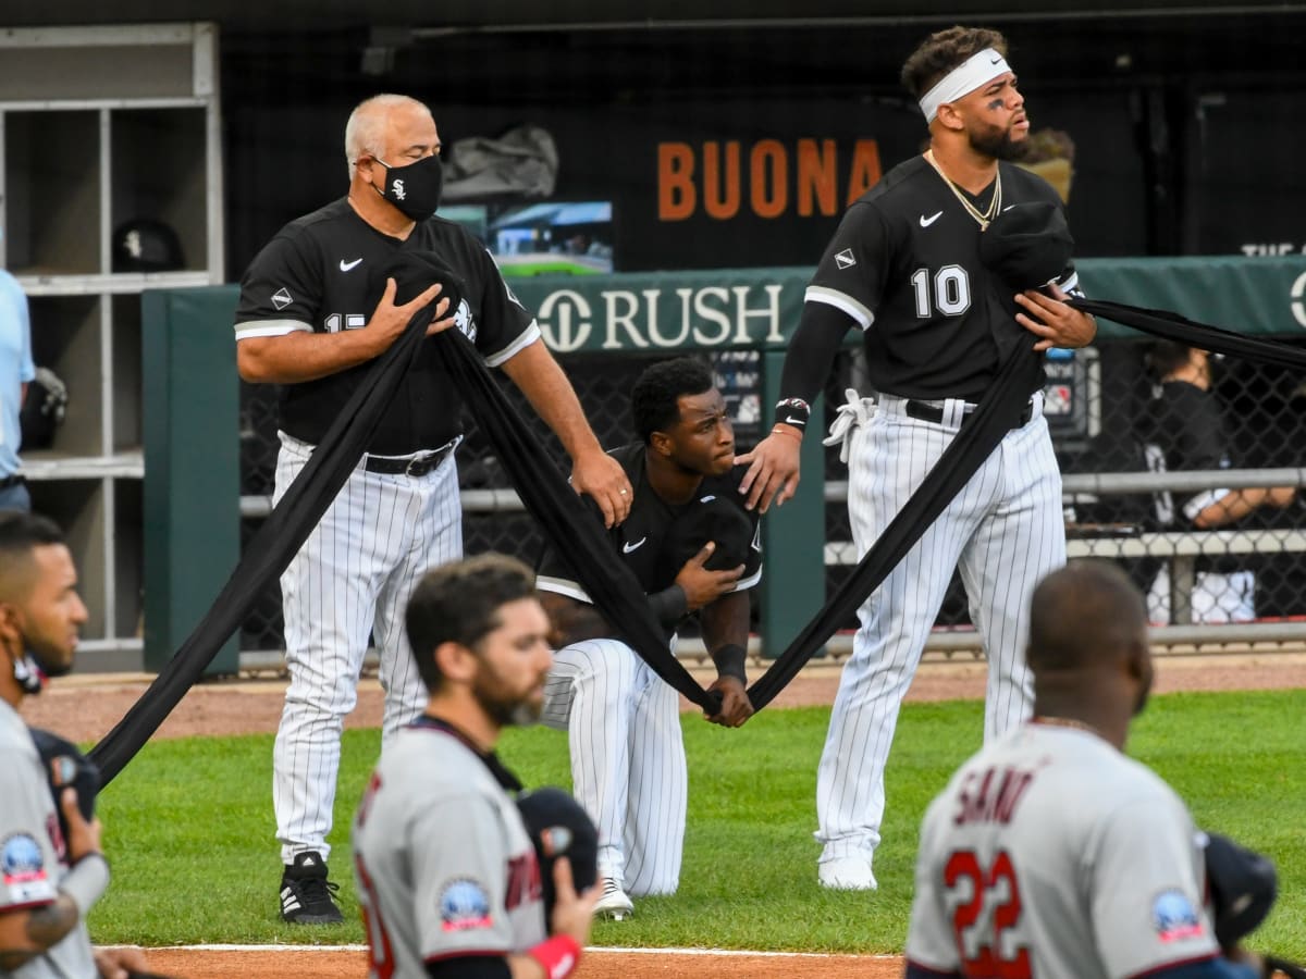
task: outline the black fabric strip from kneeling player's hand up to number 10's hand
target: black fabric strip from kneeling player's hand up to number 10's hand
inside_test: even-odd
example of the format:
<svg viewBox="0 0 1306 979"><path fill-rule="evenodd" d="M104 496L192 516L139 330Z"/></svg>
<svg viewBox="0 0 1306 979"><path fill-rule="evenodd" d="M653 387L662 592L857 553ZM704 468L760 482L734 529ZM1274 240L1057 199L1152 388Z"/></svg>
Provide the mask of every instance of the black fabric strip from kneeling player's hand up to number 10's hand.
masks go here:
<svg viewBox="0 0 1306 979"><path fill-rule="evenodd" d="M761 710L771 704L816 650L835 634L835 630L866 602L895 565L906 556L925 529L943 513L952 497L983 465L1003 436L1019 423L1028 396L1016 379L1028 368L1028 360L1033 356L1036 356L1033 350L1016 351L1002 364L980 406L966 416L956 437L884 529L884 534L857 563L857 568L838 586L816 617L748 688L748 700L754 710Z"/></svg>

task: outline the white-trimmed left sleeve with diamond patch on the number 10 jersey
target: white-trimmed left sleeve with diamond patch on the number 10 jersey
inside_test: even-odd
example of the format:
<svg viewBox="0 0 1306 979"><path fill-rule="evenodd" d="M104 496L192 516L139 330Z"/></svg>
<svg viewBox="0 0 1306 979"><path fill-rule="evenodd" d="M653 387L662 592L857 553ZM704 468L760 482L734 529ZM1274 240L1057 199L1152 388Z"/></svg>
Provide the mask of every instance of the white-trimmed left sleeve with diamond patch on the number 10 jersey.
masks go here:
<svg viewBox="0 0 1306 979"><path fill-rule="evenodd" d="M803 302L833 305L868 329L884 295L888 256L889 234L879 206L854 204L825 245Z"/></svg>

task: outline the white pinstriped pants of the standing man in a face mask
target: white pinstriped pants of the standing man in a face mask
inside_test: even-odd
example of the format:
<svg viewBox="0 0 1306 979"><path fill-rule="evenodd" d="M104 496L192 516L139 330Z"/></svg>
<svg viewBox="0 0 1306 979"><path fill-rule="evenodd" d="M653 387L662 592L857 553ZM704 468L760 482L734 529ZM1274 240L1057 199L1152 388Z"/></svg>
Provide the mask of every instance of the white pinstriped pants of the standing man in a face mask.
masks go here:
<svg viewBox="0 0 1306 979"><path fill-rule="evenodd" d="M282 433L274 503L304 467L308 448ZM461 556L451 453L423 476L367 473L359 465L281 576L290 685L272 753L272 801L282 863L307 850L324 860L330 852L340 735L358 702L368 634L385 691L383 748L426 707L404 612L426 569Z"/></svg>

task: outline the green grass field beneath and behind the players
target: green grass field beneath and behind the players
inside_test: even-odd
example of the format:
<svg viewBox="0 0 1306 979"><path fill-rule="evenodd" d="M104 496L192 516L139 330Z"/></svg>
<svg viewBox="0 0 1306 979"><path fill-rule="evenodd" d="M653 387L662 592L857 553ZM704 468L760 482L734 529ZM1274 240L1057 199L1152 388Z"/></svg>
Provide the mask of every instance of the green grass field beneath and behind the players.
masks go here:
<svg viewBox="0 0 1306 979"><path fill-rule="evenodd" d="M908 705L888 773L880 889L816 884L816 762L829 710L763 711L726 731L684 715L690 820L680 892L646 898L597 945L901 952L916 834L929 799L980 744L978 702ZM146 745L99 801L114 882L94 910L104 942L360 942L349 822L377 731L345 735L332 876L346 924L277 916L272 736ZM1306 959L1306 692L1169 694L1135 724L1130 753L1188 801L1199 825L1272 855L1280 899L1255 948ZM500 754L526 785L568 785L565 736L511 731Z"/></svg>

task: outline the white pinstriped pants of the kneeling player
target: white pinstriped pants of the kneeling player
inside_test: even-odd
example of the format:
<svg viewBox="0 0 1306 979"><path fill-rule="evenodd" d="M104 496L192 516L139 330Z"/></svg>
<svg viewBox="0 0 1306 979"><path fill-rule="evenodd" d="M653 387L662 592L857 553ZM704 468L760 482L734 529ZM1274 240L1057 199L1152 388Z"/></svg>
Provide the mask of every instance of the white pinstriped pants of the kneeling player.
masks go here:
<svg viewBox="0 0 1306 979"><path fill-rule="evenodd" d="M680 700L618 640L558 650L543 722L567 731L576 800L598 826L599 877L628 894L674 894L688 774Z"/></svg>

